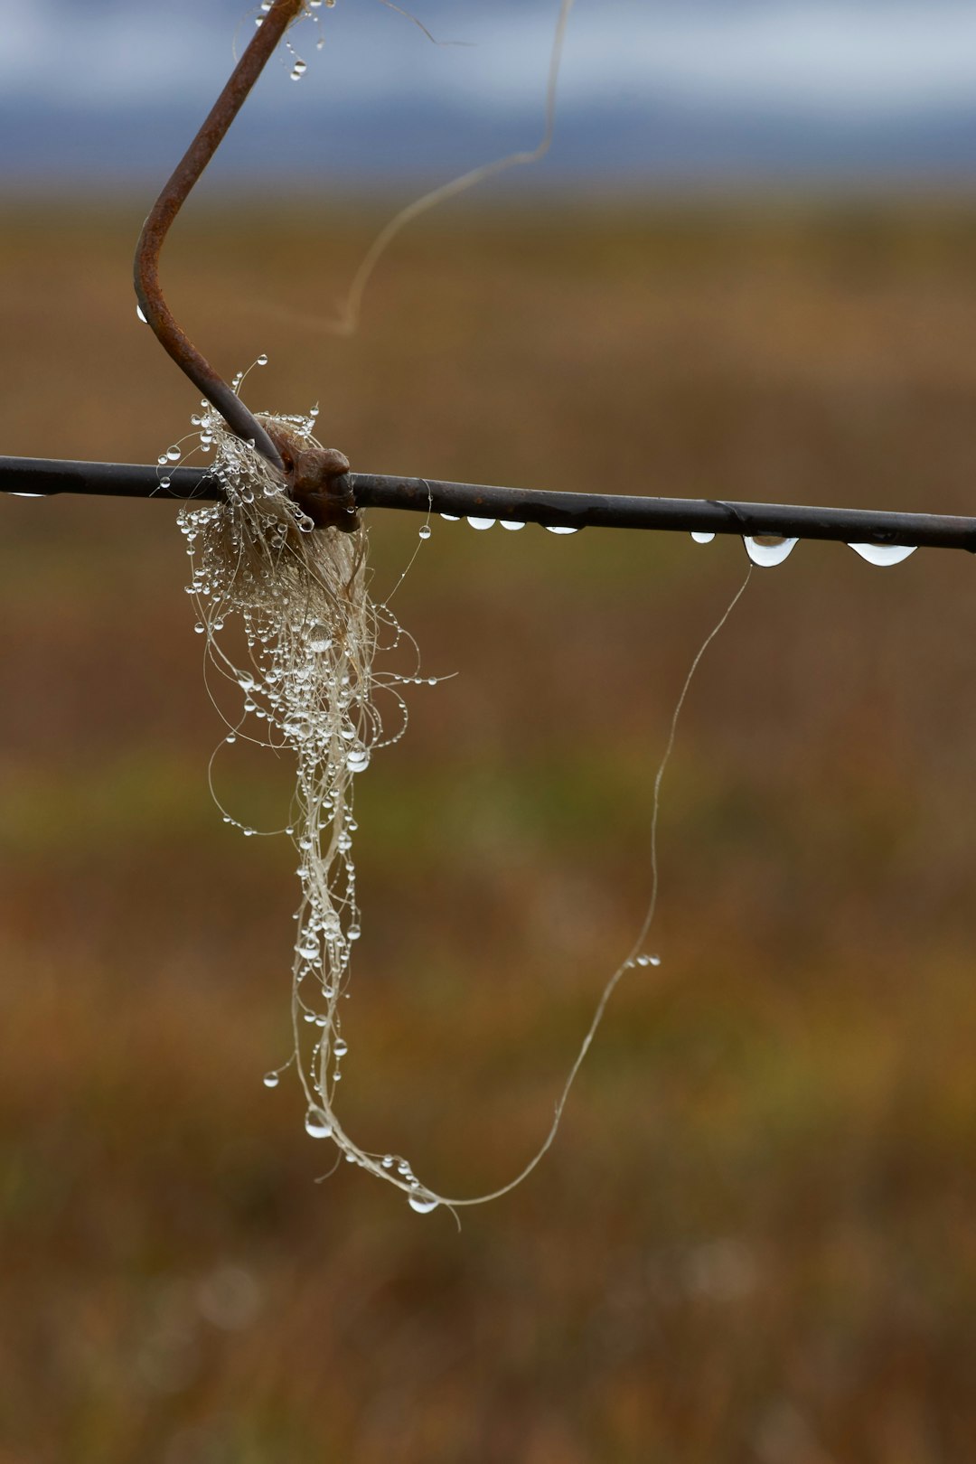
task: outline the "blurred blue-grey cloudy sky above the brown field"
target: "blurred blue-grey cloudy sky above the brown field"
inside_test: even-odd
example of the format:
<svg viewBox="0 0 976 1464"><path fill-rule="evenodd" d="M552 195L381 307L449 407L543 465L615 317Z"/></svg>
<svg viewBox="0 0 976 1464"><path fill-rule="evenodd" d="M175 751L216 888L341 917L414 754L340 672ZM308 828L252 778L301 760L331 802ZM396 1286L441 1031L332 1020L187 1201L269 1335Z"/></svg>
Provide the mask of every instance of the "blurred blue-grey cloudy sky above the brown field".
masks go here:
<svg viewBox="0 0 976 1464"><path fill-rule="evenodd" d="M533 146L558 0L337 0L272 61L212 190L436 182ZM243 47L241 0L0 0L0 184L157 182ZM521 186L976 179L976 0L577 0ZM498 184L493 184L498 187ZM511 184L509 184L511 186Z"/></svg>

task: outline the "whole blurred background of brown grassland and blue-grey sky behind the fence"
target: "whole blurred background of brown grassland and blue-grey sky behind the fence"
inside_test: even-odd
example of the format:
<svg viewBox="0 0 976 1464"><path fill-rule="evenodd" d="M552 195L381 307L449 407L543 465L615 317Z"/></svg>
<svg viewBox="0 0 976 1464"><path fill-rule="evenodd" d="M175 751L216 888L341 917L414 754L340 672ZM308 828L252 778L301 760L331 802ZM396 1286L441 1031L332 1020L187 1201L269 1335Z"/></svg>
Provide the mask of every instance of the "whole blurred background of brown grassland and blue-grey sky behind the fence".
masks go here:
<svg viewBox="0 0 976 1464"><path fill-rule="evenodd" d="M973 511L970 4L364 0L294 32L164 256L258 408L354 466ZM253 15L0 4L0 438L155 461L190 388L140 220ZM3 1464L967 1464L976 1454L973 580L802 543L708 650L663 792L658 969L552 1154L451 1217L315 1179L290 846L219 736L167 504L0 501ZM417 523L376 514L376 590ZM650 892L654 772L737 542L436 521L429 675L359 782L342 1117L451 1193L544 1133ZM274 824L287 770L228 754Z"/></svg>

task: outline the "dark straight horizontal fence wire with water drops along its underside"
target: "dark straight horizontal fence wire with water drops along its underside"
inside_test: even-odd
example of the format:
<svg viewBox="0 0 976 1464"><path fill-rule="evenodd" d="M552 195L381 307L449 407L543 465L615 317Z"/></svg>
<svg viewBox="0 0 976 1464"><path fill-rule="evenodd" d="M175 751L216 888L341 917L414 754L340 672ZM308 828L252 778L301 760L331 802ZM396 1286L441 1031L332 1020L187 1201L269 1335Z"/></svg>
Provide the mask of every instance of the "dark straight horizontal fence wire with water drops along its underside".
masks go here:
<svg viewBox="0 0 976 1464"><path fill-rule="evenodd" d="M359 508L394 508L458 518L499 518L547 529L658 529L688 533L833 539L846 543L925 545L976 552L976 518L896 514L868 508L740 504L713 498L632 498L622 493L550 493L543 489L443 483L426 477L350 473ZM161 479L168 480L162 488ZM339 480L341 482L341 480ZM208 468L132 463L70 463L0 457L0 492L94 493L114 498L219 502Z"/></svg>

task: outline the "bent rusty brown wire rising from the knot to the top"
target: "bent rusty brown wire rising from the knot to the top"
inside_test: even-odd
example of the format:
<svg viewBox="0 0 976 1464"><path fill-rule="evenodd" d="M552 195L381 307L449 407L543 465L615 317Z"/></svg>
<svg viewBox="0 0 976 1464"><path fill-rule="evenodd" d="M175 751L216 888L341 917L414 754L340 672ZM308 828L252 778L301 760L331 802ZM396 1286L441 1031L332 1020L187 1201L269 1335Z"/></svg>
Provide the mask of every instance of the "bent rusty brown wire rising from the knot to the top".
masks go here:
<svg viewBox="0 0 976 1464"><path fill-rule="evenodd" d="M282 461L269 435L177 325L159 284L159 250L173 220L180 212L200 173L217 152L227 129L260 76L265 61L303 7L304 0L275 0L263 16L258 32L234 67L206 122L193 138L193 142L152 205L152 211L142 225L135 259L135 285L139 307L162 348L171 356L180 370L190 378L193 385L203 392L206 400L217 407L231 432L236 432L244 441L252 441L256 449L269 463L274 463L275 467L281 467Z"/></svg>

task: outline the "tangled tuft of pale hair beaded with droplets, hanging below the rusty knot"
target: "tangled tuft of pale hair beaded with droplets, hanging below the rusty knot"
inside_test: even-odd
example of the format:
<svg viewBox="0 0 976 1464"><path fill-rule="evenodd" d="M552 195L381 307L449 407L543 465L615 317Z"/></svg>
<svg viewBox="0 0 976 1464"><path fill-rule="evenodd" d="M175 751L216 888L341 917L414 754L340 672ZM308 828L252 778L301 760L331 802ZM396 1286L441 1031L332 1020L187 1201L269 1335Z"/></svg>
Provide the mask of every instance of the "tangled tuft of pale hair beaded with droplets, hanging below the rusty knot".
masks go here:
<svg viewBox="0 0 976 1464"><path fill-rule="evenodd" d="M250 741L291 754L296 763L288 821L275 830L294 843L301 884L291 968L294 1047L288 1061L263 1082L277 1088L279 1075L294 1064L307 1099L306 1132L331 1139L348 1162L397 1184L423 1214L439 1200L410 1164L360 1149L334 1107L347 1053L339 1001L360 937L354 779L378 748L402 736L407 707L399 687L421 681L416 673L378 673L373 659L379 649L402 641L414 653L416 646L388 606L369 596L366 530L313 533L312 520L288 496L282 474L230 433L206 403L202 406L202 414L193 417L195 449L214 454L211 473L224 502L189 504L179 523L192 564L187 593L198 610L195 628L205 637L208 675L225 678L243 697L240 714L225 716L224 742ZM315 419L315 411L260 417L278 435L290 435L297 451L319 445L312 435ZM161 471L181 457L183 445L161 454ZM231 618L243 628L244 654L231 653L221 637ZM378 691L392 695L392 735L383 732ZM222 813L225 823L244 834L256 833Z"/></svg>

